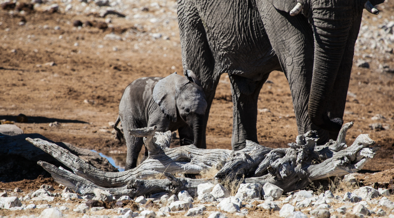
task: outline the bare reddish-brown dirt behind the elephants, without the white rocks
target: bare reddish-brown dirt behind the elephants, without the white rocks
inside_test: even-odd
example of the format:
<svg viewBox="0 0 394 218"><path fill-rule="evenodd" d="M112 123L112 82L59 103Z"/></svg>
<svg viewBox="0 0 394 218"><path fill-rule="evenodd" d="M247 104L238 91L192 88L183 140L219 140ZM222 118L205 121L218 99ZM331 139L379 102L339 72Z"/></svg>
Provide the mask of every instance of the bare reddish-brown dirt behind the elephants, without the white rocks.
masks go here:
<svg viewBox="0 0 394 218"><path fill-rule="evenodd" d="M387 5L381 9L383 18L394 13L392 2ZM363 19L374 23L366 13ZM0 120L15 122L25 133L124 157L126 145L114 139L108 123L115 122L123 90L133 80L183 72L179 31L176 26L166 28L171 35L168 40L154 39L138 37L148 30L135 27L132 20L112 17L113 27L107 29L75 28L75 20L98 23L104 18L0 9ZM20 26L21 21L28 26ZM111 32L129 32L130 37L104 40ZM382 73L380 63L394 67L390 59L373 60L369 69L353 66L349 87L353 94L348 96L344 115L345 122L355 122L347 135L349 144L365 133L382 146L364 173L394 168L394 77ZM258 139L264 146L286 147L297 135L289 85L282 72L272 72L268 80L271 83L263 86L259 96ZM18 114L25 114L29 121L16 122ZM371 120L376 114L385 120ZM50 127L55 121L60 126ZM390 127L371 130L369 125L376 122ZM209 115L207 148L231 149L231 127L230 83L224 74ZM118 161L122 164L122 159Z"/></svg>

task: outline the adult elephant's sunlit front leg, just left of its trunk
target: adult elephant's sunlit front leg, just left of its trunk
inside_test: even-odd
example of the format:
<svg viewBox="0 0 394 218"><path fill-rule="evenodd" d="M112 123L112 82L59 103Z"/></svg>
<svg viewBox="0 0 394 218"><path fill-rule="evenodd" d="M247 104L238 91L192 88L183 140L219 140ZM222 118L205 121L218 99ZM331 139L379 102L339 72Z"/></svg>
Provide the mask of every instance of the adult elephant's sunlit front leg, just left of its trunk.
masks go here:
<svg viewBox="0 0 394 218"><path fill-rule="evenodd" d="M308 117L308 101L313 73L313 32L303 15L290 16L276 10L268 1L258 5L264 28L277 54L290 89L298 134L317 130L318 143L328 141L328 131L313 125Z"/></svg>

